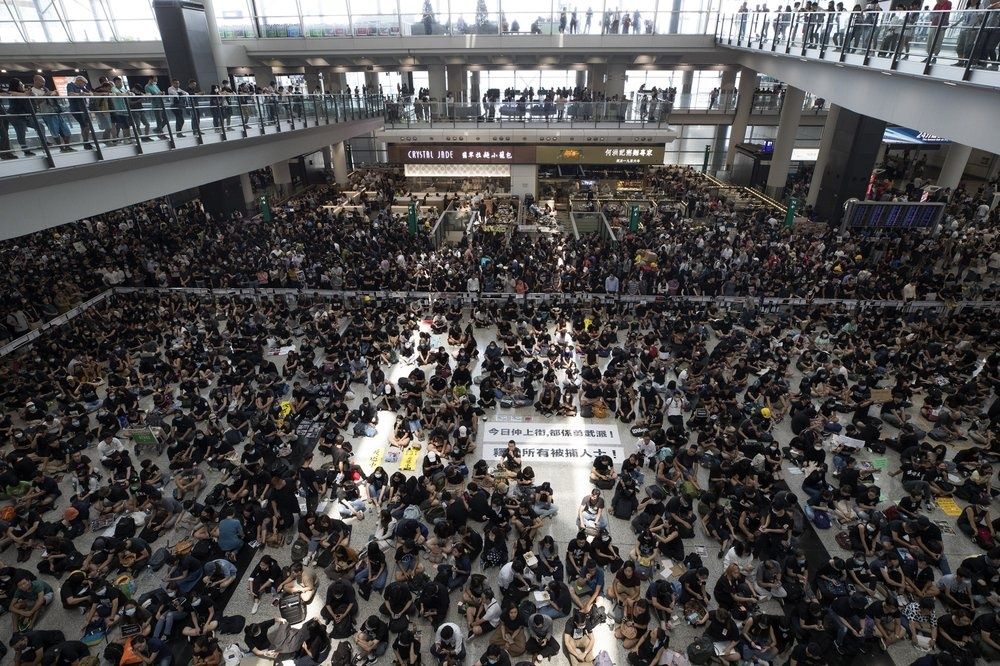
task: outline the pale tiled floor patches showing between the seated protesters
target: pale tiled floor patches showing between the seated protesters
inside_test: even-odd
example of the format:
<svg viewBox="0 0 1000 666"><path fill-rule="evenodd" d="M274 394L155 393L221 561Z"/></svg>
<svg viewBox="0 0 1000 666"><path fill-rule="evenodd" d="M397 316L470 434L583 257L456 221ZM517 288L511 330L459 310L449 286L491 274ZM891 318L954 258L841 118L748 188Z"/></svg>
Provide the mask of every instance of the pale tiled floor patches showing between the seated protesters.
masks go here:
<svg viewBox="0 0 1000 666"><path fill-rule="evenodd" d="M485 344L489 341L493 333L494 329L477 330L476 336L477 340L480 343L480 348L485 346ZM439 340L438 339L439 337L443 338L443 336L434 336L435 339L432 340L433 347L436 347L438 344L445 344L445 340L444 339ZM275 360L277 363L280 364L282 359L281 357L279 357ZM407 366L405 364L400 363L394 366L391 369L391 371L387 371L387 374L390 376L391 379L395 380L401 376L404 376L407 372L409 372L410 367L411 366ZM797 383L798 383L797 378L793 378L792 385L796 386ZM360 385L358 386L360 388ZM364 389L360 389L359 395L357 396L356 400L360 400L360 398L365 393L366 392L364 391ZM516 415L538 420L538 416L534 413L534 410L532 410L531 408L500 410L499 413L504 416ZM488 415L489 418L494 418L495 416L496 414ZM544 419L543 421L546 424L555 424L560 422L558 419ZM571 424L577 424L581 423L582 420L568 419L566 420L566 422ZM619 429L619 435L623 442L626 452L632 450L632 448L634 447L635 438L629 434L627 426L624 426L622 424L616 423L611 420L605 420L604 423L613 424L615 427L617 427ZM383 412L380 414L378 434L375 437L364 438L364 439L353 438L356 457L359 461L369 460L369 458L371 457L371 453L375 449L377 448L384 449L386 447L386 439L388 437L388 433L392 427L392 424L393 424L393 414L389 412ZM888 431L891 431L891 429L887 429L887 434L894 434L894 433L889 433ZM787 441L791 437L791 433L788 427L788 421L779 424L775 428L774 434L782 444L787 443ZM479 445L482 444L482 428L480 429L477 444ZM888 452L886 456L872 456L867 452L862 453L863 459L872 459L875 457L886 457L888 469L890 470L896 467L897 458L895 454L891 451ZM478 456L474 456L473 459L477 458ZM573 536L576 534L577 531L576 526L574 524L574 518L576 515L576 506L579 503L580 499L586 493L588 493L591 488L591 485L588 481L588 470L589 470L588 460L587 459L580 459L576 461L563 460L559 463L536 460L532 462L532 466L536 471L537 475L536 478L538 479L539 482L549 481L552 484L552 487L555 491L555 497L557 499L557 503L560 507L559 515L555 519L547 522L542 534L543 535L551 534L553 538L556 540L556 542L559 544L560 551L564 553L566 544L570 539L573 538ZM395 471L397 464L387 463L385 467L387 471L389 471L389 473L391 474L393 471ZM419 469L419 462L418 462L418 469ZM209 487L211 487L216 474L213 470L206 470L206 471L209 476ZM702 475L704 478L707 479L707 472L705 470L702 470ZM801 479L802 479L801 476L788 474L786 471L785 479L787 480L789 486L792 488L793 491L798 492L800 490ZM895 478L889 477L885 473L881 473L878 476L877 482L882 486L884 490L884 497L888 497L891 500L896 500L903 495L900 484ZM606 495L608 496L608 499L610 501L610 493L606 493ZM801 493L800 497L802 497ZM943 518L944 514L938 509L935 510L933 517L935 519ZM353 540L352 540L352 543L355 547L359 547L360 545L363 545L367 541L368 536L371 534L373 523L374 520L371 517L369 517L368 519L355 524ZM623 554L627 554L628 551L631 550L631 548L635 544L635 535L632 532L630 526L625 521L612 518L610 520L610 531L612 536L614 537L615 545L618 546L619 550ZM818 539L831 554L845 555L845 553L837 546L834 540L835 531L836 531L835 529L820 531L818 533ZM173 542L176 541L181 536L183 536L183 534L174 533L170 535L168 538L170 541ZM87 550L89 549L90 542L93 540L93 537L94 537L93 534L88 533L79 540L78 547L82 552L84 553L87 552ZM711 578L709 580L709 589L711 589L711 586L714 585L716 578L721 573L721 560L717 557L719 548L715 542L710 541L703 536L703 532L700 525L696 527L695 539L689 540L686 543L688 551L695 549L695 547L697 546L702 546L706 551L706 555L703 559L706 566L711 571ZM266 552L276 557L280 563L287 564L290 561L288 551L289 549L286 547L280 551L274 549L267 549ZM963 559L964 557L969 555L975 555L978 554L979 552L980 552L979 549L961 533L957 534L957 536L955 537L948 538L946 540L946 553L951 562L953 563L953 566L957 562L961 561L961 559ZM254 556L254 561L251 564L251 566L256 564L256 560L259 558L259 556L260 553ZM13 559L12 552L8 552L7 557L8 561L12 560ZM37 558L37 555L33 556L33 559L29 562L29 564L21 566L29 566L29 567L32 566L36 561L35 558ZM164 576L164 573L165 573L164 570L161 570L159 573L146 571L138 578L138 589L140 591L144 591L158 585L160 583L160 580ZM495 574L495 570L493 571L493 573ZM310 616L318 615L319 609L322 605L323 596L325 593L325 587L326 587L325 577L323 576L322 572L318 570L317 574L319 580L322 582L322 587L320 588L318 594L316 595L314 601L312 602L309 613ZM457 621L458 615L457 612L454 610L455 606L454 596L455 595L453 595L452 610L449 619ZM360 619L363 620L369 613L376 612L378 604L381 603L381 598L378 596L378 594L374 594L372 596L371 601L369 602L362 601L361 603L362 607L361 607ZM246 581L244 579L239 584L239 588L237 589L235 595L233 596L233 599L230 601L226 609L226 614L246 615L248 622L261 621L267 619L268 617L277 615L276 608L267 603L261 605L260 610L255 615L250 615L250 609L251 609L251 601L247 593ZM780 612L780 609L776 602L766 602L764 605L764 609L768 612L775 612L775 613ZM58 602L56 602L47 610L47 612L45 613L44 617L42 618L39 624L39 627L60 628L67 634L67 636L72 638L74 636L79 635L79 632L82 629L82 625L83 625L83 619L81 616L75 613L68 613L64 611L59 606ZM424 625L421 628L423 630L422 640L424 644L424 657L425 660L429 660L425 661L425 663L434 663L428 651L428 646L433 636L432 631L430 627L427 625ZM557 621L556 631L561 632L561 630L562 630L562 621ZM687 644L696 635L698 635L698 633L699 632L687 626L683 621L678 622L676 628L673 630L672 645L676 649L683 650L687 646ZM0 625L0 639L6 641L9 638L9 635L10 635L9 623L4 623L3 625ZM611 655L614 663L618 664L619 666L626 663L625 652L624 650L620 649L618 642L611 635L611 630L609 628L607 627L598 628L596 632L596 637L597 637L598 650L606 649ZM232 640L234 640L234 638L236 637L223 636L221 642L223 643L223 645L226 645ZM478 659L481 652L485 649L485 645L486 642L484 640L481 640L479 642L474 642L470 646L470 658L468 663L470 664L474 663L474 661ZM896 664L908 664L913 659L918 657L919 653L916 652L913 648L911 648L908 643L904 643L902 645L894 646L890 651L890 656ZM254 663L257 661L259 661L261 664L268 663L266 662L266 660L263 659L258 660L255 657L248 657L244 663ZM869 658L868 661L871 662L873 660ZM381 663L389 663L389 662L390 662L389 656L383 657L381 660ZM561 655L555 657L551 661L551 663L564 663L564 662L565 658L562 657Z"/></svg>

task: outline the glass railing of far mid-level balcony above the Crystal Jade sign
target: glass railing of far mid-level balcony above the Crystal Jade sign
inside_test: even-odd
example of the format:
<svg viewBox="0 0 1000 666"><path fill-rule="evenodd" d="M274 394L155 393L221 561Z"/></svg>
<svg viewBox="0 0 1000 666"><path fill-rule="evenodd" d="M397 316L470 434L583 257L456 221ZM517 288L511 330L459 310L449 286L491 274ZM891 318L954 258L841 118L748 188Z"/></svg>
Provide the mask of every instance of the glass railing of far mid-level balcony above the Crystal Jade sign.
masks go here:
<svg viewBox="0 0 1000 666"><path fill-rule="evenodd" d="M385 101L387 129L459 127L470 124L544 127L666 127L671 114L731 114L736 110L736 91L716 95L670 94L654 97L638 93L629 99L604 101L559 101L556 99L510 99L489 102L443 102L413 96ZM754 92L751 113L781 113L784 96L779 90ZM803 111L825 112L821 98L807 94Z"/></svg>

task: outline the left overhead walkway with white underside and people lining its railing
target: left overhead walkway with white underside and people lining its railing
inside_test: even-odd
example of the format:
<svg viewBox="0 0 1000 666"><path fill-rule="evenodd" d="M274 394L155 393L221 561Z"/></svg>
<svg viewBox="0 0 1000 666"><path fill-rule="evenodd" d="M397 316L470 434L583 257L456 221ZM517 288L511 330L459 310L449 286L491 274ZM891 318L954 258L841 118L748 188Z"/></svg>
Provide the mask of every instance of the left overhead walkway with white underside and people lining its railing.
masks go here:
<svg viewBox="0 0 1000 666"><path fill-rule="evenodd" d="M382 126L376 97L182 99L179 108L171 98L142 97L130 100L141 106L88 113L61 106L65 98L53 100L60 106L3 98L0 206L12 214L0 223L0 239L247 173ZM119 100L129 98L108 101Z"/></svg>

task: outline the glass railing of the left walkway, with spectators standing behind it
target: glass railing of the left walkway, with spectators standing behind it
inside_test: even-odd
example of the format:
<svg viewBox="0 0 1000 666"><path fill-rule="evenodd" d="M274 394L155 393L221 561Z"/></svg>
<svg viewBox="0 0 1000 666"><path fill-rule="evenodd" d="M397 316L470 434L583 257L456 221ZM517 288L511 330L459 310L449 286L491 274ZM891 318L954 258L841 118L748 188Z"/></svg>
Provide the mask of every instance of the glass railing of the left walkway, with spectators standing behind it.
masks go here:
<svg viewBox="0 0 1000 666"><path fill-rule="evenodd" d="M378 95L0 96L0 177L381 118Z"/></svg>

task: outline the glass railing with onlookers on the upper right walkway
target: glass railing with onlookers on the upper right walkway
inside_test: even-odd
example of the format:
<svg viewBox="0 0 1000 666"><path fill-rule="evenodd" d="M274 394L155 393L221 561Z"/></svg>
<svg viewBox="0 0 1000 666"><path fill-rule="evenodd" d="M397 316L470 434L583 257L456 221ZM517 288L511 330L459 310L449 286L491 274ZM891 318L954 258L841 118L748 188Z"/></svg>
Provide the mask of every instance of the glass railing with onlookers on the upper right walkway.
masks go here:
<svg viewBox="0 0 1000 666"><path fill-rule="evenodd" d="M1000 9L739 12L719 16L716 39L727 46L969 80L1000 65Z"/></svg>

